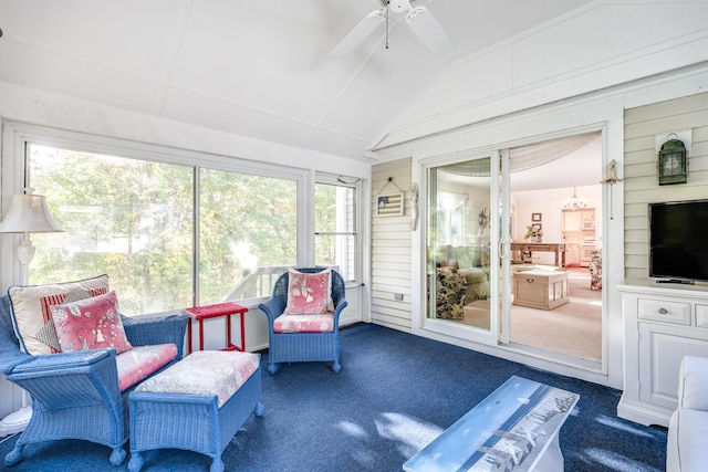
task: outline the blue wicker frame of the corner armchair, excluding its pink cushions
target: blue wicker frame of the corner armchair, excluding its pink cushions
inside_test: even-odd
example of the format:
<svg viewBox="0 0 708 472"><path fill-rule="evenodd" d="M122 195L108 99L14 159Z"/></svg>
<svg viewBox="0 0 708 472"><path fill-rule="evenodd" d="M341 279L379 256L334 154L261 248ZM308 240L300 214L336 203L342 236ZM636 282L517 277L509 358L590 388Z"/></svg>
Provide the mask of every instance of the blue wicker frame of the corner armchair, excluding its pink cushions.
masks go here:
<svg viewBox="0 0 708 472"><path fill-rule="evenodd" d="M302 268L303 273L321 272L322 268ZM340 366L340 314L346 306L344 280L332 271L332 301L334 302L334 325L326 333L277 333L273 329L288 303L289 274L282 274L273 286L271 298L259 305L268 316L269 366L268 371L275 374L279 363L308 363L332 360L332 370L339 373Z"/></svg>

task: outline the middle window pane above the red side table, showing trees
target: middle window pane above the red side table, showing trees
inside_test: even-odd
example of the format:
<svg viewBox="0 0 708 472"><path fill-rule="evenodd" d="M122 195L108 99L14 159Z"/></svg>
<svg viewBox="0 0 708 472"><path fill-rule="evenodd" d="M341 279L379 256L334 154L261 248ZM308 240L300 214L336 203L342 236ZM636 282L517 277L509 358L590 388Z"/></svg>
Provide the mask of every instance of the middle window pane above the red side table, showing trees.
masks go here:
<svg viewBox="0 0 708 472"><path fill-rule="evenodd" d="M269 296L298 262L294 180L199 171L202 303Z"/></svg>

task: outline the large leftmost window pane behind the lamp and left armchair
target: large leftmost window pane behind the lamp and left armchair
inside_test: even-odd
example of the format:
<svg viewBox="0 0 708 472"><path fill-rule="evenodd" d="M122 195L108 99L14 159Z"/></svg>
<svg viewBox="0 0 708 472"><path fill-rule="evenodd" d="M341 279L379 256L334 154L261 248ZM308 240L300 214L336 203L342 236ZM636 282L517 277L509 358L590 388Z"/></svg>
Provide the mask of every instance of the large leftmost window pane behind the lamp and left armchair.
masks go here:
<svg viewBox="0 0 708 472"><path fill-rule="evenodd" d="M190 168L35 144L28 167L65 231L32 235L31 284L106 273L126 314L190 306Z"/></svg>

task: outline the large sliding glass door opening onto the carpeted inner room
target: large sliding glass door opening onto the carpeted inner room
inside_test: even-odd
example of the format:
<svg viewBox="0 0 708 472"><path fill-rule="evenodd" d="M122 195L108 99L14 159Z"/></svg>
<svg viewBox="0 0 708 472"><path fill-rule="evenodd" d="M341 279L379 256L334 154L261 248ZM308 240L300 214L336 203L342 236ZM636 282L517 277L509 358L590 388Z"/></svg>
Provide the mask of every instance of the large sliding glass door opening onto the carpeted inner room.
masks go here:
<svg viewBox="0 0 708 472"><path fill-rule="evenodd" d="M425 169L430 326L602 363L602 294L568 250L601 254L601 162L602 134L591 133ZM564 209L576 189L587 207Z"/></svg>

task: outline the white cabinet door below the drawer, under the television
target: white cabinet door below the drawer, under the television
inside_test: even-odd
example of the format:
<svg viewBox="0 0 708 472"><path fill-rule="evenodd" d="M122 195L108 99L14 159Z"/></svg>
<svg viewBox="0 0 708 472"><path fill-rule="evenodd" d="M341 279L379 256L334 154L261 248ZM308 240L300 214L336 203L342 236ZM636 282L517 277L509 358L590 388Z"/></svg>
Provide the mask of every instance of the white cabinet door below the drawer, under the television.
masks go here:
<svg viewBox="0 0 708 472"><path fill-rule="evenodd" d="M639 399L678 406L678 369L684 356L708 357L708 333L658 323L639 323Z"/></svg>

